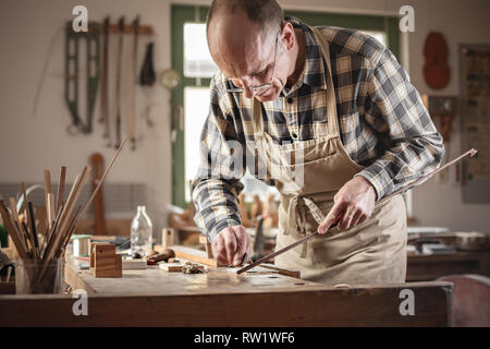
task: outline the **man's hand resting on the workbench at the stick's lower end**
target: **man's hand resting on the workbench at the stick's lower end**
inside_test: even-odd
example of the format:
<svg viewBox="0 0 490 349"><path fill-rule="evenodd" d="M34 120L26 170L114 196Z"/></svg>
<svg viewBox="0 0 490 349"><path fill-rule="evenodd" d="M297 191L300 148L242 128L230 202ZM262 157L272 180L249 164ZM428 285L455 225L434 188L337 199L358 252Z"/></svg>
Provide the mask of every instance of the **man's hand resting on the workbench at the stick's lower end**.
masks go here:
<svg viewBox="0 0 490 349"><path fill-rule="evenodd" d="M228 227L221 230L211 244L212 255L218 263L242 265L243 256L252 256L252 244L243 226Z"/></svg>

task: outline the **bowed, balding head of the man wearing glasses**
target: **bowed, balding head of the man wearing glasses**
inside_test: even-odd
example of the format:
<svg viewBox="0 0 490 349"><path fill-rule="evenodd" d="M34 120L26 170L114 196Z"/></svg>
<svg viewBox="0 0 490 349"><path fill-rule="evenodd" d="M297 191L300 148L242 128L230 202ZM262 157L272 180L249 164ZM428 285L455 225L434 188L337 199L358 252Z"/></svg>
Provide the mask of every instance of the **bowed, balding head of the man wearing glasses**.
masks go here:
<svg viewBox="0 0 490 349"><path fill-rule="evenodd" d="M294 72L295 29L275 0L213 0L207 37L213 61L246 98L273 100Z"/></svg>

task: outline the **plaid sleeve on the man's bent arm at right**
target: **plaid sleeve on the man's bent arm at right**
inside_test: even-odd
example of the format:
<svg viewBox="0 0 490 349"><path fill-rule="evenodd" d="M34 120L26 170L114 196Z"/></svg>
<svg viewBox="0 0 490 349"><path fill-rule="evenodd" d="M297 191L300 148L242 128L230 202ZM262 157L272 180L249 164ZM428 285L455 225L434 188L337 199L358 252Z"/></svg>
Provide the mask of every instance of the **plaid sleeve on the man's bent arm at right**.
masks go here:
<svg viewBox="0 0 490 349"><path fill-rule="evenodd" d="M364 117L379 134L384 152L356 177L373 185L377 200L439 167L444 155L442 136L407 73L389 50L368 79Z"/></svg>

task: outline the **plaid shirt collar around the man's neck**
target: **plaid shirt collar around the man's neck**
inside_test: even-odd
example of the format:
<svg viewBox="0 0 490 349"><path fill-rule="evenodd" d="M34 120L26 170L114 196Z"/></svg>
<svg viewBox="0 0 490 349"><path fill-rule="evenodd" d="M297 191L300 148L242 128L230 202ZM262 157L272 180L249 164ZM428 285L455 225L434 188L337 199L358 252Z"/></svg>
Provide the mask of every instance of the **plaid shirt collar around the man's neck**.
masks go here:
<svg viewBox="0 0 490 349"><path fill-rule="evenodd" d="M303 83L321 89L327 89L327 77L324 74L326 64L323 55L321 55L320 43L315 40L311 29L301 20L291 16L286 16L284 20L291 22L294 27L301 28L305 34L306 61L302 73ZM295 89L296 85L297 83L292 87L292 89Z"/></svg>

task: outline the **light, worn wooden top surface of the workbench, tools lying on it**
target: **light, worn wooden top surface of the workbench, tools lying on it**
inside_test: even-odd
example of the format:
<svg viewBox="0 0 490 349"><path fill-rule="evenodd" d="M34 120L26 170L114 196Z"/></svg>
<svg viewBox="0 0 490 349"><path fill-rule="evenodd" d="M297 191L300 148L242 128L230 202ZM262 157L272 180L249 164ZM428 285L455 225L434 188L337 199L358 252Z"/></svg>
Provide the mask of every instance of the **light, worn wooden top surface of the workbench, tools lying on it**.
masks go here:
<svg viewBox="0 0 490 349"><path fill-rule="evenodd" d="M122 278L95 278L88 270L79 270L76 264L68 263L65 281L72 289L85 289L90 296L230 294L324 289L320 284L280 275L260 266L242 275L236 275L238 268L234 267L207 268L208 272L203 274L184 274L148 266L147 269L123 270Z"/></svg>

